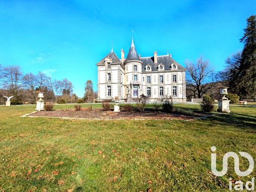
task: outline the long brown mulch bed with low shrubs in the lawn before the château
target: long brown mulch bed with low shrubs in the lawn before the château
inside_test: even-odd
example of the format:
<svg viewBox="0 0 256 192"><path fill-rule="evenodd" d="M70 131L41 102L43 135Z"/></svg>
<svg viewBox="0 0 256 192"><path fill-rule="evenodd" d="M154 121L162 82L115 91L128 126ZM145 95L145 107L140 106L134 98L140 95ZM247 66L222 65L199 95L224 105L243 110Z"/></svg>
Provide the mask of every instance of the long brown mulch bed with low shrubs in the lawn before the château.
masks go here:
<svg viewBox="0 0 256 192"><path fill-rule="evenodd" d="M81 111L69 110L54 110L54 111L37 111L29 116L33 117L58 117L58 118L85 118L85 119L180 119L192 120L196 117L203 117L204 114L177 114L163 113L155 111L103 111L102 109L82 109Z"/></svg>

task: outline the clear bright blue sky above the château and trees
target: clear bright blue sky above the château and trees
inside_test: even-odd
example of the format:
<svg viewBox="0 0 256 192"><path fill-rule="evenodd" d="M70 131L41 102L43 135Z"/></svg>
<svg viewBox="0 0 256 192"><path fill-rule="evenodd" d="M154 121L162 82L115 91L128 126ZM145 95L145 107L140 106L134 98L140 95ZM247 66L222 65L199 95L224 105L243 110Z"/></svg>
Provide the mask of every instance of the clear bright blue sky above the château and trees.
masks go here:
<svg viewBox="0 0 256 192"><path fill-rule="evenodd" d="M134 43L142 57L154 51L184 65L203 55L216 70L243 48L239 39L255 0L0 0L0 64L24 73L44 71L69 79L84 94L96 90L96 63L111 51L126 55Z"/></svg>

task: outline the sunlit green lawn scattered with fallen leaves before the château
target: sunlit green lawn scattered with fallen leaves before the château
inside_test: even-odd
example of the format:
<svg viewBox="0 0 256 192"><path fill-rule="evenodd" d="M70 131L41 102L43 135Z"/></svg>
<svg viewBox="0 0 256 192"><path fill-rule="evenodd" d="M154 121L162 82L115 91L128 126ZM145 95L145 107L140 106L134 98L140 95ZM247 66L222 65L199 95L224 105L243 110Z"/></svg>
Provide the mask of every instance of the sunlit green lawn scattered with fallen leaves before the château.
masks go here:
<svg viewBox="0 0 256 192"><path fill-rule="evenodd" d="M226 175L211 174L211 146L219 168L229 151L256 160L256 107L231 106L230 114L194 121L20 117L34 108L0 106L0 191L222 191L238 177L232 160Z"/></svg>

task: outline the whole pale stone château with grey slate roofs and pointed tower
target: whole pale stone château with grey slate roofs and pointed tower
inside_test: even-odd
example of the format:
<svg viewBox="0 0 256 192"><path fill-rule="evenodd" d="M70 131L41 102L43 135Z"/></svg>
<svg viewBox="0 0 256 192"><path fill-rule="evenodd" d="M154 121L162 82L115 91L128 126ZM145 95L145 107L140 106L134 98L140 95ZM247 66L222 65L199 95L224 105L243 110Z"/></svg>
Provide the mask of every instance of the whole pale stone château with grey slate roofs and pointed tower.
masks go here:
<svg viewBox="0 0 256 192"><path fill-rule="evenodd" d="M133 39L125 59L121 50L118 59L113 49L97 64L98 100L119 98L132 101L141 95L151 101L162 96L172 96L174 101L186 101L186 69L175 62L171 55L141 57Z"/></svg>

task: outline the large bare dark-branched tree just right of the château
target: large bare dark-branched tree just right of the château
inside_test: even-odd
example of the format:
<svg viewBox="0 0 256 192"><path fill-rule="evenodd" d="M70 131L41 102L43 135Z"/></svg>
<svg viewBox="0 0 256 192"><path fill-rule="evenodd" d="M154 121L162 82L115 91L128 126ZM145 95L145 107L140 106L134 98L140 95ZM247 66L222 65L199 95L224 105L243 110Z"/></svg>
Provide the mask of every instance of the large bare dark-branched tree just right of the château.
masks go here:
<svg viewBox="0 0 256 192"><path fill-rule="evenodd" d="M186 68L189 73L187 75L187 90L188 93L192 93L194 98L201 98L217 83L214 70L210 67L209 61L204 61L203 57L197 59L196 64L187 61Z"/></svg>

